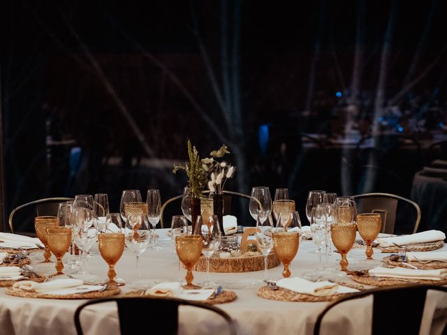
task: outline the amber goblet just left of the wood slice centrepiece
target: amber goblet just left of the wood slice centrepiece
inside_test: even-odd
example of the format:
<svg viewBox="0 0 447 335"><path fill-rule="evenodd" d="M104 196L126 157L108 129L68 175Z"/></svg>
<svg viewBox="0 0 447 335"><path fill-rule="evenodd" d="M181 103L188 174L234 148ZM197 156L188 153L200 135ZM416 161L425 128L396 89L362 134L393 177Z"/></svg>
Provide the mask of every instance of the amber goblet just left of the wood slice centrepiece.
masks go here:
<svg viewBox="0 0 447 335"><path fill-rule="evenodd" d="M203 237L200 235L181 235L175 237L175 251L180 262L186 267L186 285L184 288L200 288L193 285L193 266L202 255Z"/></svg>

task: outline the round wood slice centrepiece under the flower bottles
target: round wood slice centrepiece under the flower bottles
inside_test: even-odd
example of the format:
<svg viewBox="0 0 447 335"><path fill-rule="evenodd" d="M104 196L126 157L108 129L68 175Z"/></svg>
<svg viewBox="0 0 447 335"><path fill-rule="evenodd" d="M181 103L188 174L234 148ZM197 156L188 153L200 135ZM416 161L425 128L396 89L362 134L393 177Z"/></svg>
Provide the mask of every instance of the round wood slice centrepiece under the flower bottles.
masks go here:
<svg viewBox="0 0 447 335"><path fill-rule="evenodd" d="M270 253L267 256L267 267L277 267L280 265L277 255ZM241 256L241 257L228 257L228 258L210 258L210 272L249 272L249 271L261 271L264 269L264 256ZM200 257L196 263L194 271L205 272L207 271L207 260L205 257Z"/></svg>

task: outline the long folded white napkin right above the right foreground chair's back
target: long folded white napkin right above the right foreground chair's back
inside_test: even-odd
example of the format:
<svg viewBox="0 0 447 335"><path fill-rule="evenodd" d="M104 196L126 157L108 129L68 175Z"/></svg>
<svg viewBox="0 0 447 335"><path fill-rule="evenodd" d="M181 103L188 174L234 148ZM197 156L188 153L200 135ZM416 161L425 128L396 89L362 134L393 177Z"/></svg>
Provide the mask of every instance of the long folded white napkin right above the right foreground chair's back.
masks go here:
<svg viewBox="0 0 447 335"><path fill-rule="evenodd" d="M377 277L423 279L426 281L440 281L441 279L447 278L446 269L416 270L404 267L395 267L393 269L388 267L374 267L374 269L369 270L369 274Z"/></svg>

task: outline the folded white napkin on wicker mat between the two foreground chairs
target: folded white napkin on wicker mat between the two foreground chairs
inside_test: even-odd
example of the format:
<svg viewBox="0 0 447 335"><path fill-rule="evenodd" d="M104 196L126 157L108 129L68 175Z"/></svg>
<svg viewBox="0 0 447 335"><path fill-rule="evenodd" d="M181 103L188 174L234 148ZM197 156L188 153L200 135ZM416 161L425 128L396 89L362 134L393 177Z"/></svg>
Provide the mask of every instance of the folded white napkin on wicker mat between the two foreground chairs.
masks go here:
<svg viewBox="0 0 447 335"><path fill-rule="evenodd" d="M314 283L300 277L279 279L277 286L293 292L316 296L358 292L355 288L346 288L346 286L331 283L330 281L318 281Z"/></svg>

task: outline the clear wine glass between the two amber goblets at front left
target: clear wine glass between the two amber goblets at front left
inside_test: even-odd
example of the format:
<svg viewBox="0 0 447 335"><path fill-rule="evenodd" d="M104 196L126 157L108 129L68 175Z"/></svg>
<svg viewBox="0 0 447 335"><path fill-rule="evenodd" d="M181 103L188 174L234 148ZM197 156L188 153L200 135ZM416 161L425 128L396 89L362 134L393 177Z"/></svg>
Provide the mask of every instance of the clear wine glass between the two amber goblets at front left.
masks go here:
<svg viewBox="0 0 447 335"><path fill-rule="evenodd" d="M128 220L125 228L126 247L135 255L137 278L131 282L134 288L140 290L147 289L151 285L145 280L140 278L140 255L144 253L149 244L150 232L145 220L146 212L145 207L139 207L140 211L135 211L132 217L128 216Z"/></svg>

